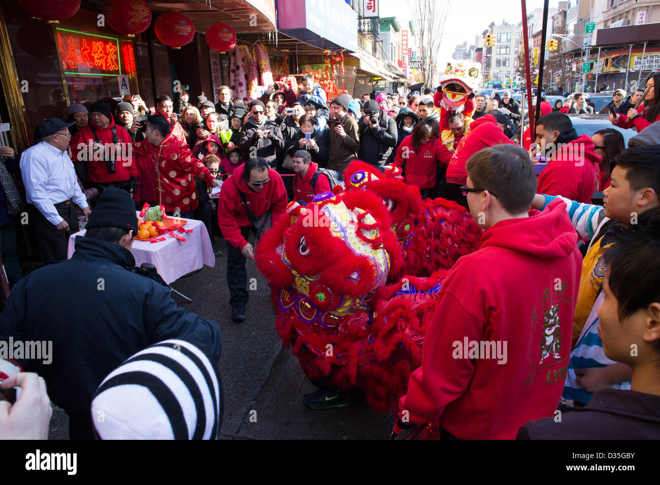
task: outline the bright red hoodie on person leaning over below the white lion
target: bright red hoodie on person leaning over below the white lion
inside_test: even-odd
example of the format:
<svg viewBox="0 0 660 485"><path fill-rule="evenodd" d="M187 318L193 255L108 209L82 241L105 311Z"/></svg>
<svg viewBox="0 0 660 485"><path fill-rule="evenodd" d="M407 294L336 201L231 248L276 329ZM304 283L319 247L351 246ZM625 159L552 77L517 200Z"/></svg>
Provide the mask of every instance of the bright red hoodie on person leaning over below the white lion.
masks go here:
<svg viewBox="0 0 660 485"><path fill-rule="evenodd" d="M449 160L447 183L465 185L467 183L467 172L465 172L467 160L482 148L506 143L515 145L515 142L508 139L498 128L493 115L483 115L475 119L470 123L470 133L463 136Z"/></svg>

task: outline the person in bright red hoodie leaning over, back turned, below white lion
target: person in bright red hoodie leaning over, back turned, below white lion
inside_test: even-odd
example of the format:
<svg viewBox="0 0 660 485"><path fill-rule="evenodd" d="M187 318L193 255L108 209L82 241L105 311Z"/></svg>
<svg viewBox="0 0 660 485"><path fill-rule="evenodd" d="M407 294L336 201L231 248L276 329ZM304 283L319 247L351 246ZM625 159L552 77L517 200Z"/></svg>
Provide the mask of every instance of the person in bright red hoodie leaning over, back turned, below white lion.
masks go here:
<svg viewBox="0 0 660 485"><path fill-rule="evenodd" d="M461 192L465 185L467 160L482 148L511 143L513 141L504 135L508 117L504 113L488 114L475 119L470 124L470 132L461 138L454 148L453 155L447 166L447 199L455 201L467 208L467 199Z"/></svg>

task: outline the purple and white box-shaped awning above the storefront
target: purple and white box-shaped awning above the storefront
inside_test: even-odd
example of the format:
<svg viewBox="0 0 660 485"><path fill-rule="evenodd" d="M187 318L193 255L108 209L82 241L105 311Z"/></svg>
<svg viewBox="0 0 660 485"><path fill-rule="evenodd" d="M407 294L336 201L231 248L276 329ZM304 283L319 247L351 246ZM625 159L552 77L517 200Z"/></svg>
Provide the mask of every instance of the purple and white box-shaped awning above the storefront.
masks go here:
<svg viewBox="0 0 660 485"><path fill-rule="evenodd" d="M321 49L358 50L358 14L343 1L279 1L277 24L284 34Z"/></svg>

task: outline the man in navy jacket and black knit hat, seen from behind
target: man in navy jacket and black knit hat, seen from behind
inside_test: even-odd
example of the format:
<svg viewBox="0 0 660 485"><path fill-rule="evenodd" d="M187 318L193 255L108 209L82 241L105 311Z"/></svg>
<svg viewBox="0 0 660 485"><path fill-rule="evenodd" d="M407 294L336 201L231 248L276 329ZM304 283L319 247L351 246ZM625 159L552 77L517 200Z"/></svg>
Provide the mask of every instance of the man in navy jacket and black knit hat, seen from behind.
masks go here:
<svg viewBox="0 0 660 485"><path fill-rule="evenodd" d="M50 362L19 363L44 377L53 403L69 414L71 439L94 438L92 397L135 352L185 339L220 357L218 324L178 307L160 276L135 268L130 249L136 232L131 197L106 189L71 259L25 275L0 315L0 341L53 342Z"/></svg>

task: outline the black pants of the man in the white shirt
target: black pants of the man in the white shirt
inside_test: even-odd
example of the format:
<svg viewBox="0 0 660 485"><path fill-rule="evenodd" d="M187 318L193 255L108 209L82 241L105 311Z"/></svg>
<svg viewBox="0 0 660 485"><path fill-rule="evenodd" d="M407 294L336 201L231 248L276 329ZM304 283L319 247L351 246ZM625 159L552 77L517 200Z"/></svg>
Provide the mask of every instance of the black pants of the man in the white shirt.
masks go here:
<svg viewBox="0 0 660 485"><path fill-rule="evenodd" d="M44 261L61 261L62 259L67 259L69 236L79 231L75 203L55 204L55 209L57 209L59 216L69 224L68 231L57 230L55 224L44 217L44 214L39 209L32 204L28 204L28 214L30 220L34 221L37 243L39 244Z"/></svg>

